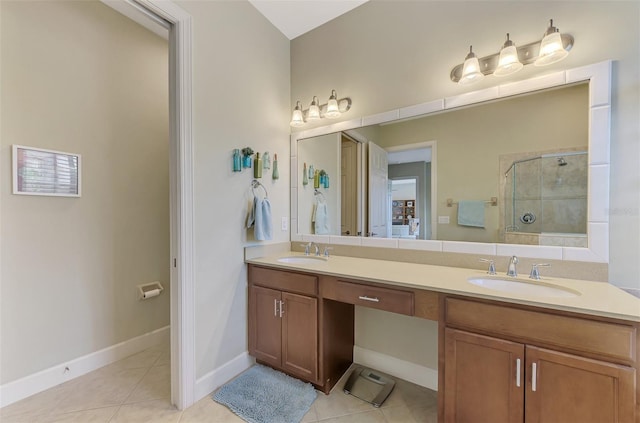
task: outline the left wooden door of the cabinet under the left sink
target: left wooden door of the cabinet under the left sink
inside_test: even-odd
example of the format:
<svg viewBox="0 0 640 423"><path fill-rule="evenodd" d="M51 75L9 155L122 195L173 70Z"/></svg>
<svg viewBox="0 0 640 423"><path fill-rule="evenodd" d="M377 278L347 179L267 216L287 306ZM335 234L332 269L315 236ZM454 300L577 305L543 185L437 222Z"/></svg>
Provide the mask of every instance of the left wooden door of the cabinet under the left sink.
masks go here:
<svg viewBox="0 0 640 423"><path fill-rule="evenodd" d="M282 361L280 291L251 286L249 289L249 352L275 367Z"/></svg>

